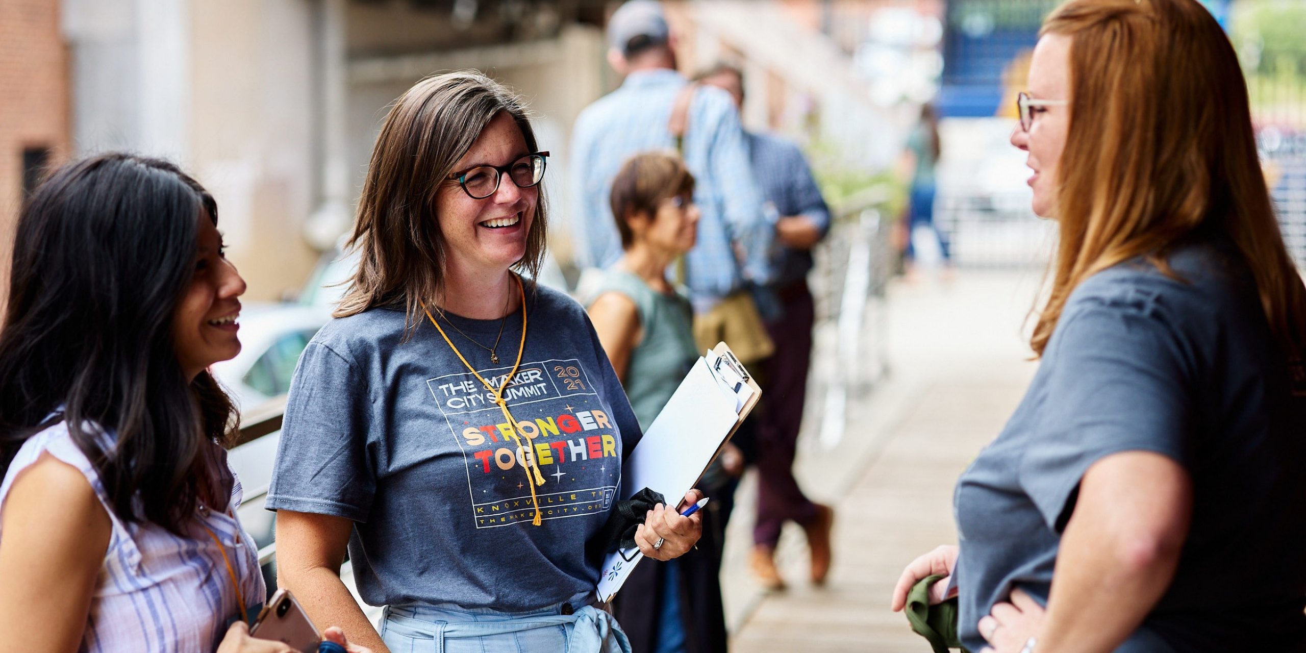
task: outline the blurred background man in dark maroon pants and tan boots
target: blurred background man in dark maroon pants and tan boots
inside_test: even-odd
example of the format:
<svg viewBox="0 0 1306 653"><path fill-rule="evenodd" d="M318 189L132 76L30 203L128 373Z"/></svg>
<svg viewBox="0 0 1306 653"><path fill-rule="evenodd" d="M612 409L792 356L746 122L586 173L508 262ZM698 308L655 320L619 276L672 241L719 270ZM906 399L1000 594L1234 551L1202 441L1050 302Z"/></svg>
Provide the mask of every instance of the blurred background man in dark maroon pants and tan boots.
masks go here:
<svg viewBox="0 0 1306 653"><path fill-rule="evenodd" d="M725 89L735 106L743 107L743 72L739 68L720 64L699 78L705 85ZM763 289L765 299L761 302L771 304L763 315L776 351L765 363L765 372L759 375L765 400L757 405L760 414L754 418L757 521L752 532L750 565L764 586L781 589L785 581L774 558L785 521L797 522L807 534L812 582L824 582L831 564L835 512L828 505L811 502L798 487L793 471L807 397L812 326L816 323L807 273L812 269L812 247L829 230L829 208L797 145L767 133L744 135L767 210L778 215L778 247L767 260L769 269L765 276L771 282Z"/></svg>

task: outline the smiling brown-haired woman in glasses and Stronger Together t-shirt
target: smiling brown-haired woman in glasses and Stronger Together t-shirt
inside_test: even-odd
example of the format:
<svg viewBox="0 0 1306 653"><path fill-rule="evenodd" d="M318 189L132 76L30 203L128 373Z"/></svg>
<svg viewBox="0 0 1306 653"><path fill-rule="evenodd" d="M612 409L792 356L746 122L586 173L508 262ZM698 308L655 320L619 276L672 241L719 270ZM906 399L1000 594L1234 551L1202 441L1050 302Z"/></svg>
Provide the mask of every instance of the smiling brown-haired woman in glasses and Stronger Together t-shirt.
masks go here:
<svg viewBox="0 0 1306 653"><path fill-rule="evenodd" d="M543 257L546 155L482 74L409 89L363 185L358 273L295 372L279 579L377 650L629 650L585 546L640 427L584 308L513 272ZM639 525L644 555L697 541L671 508ZM340 580L346 546L380 633Z"/></svg>

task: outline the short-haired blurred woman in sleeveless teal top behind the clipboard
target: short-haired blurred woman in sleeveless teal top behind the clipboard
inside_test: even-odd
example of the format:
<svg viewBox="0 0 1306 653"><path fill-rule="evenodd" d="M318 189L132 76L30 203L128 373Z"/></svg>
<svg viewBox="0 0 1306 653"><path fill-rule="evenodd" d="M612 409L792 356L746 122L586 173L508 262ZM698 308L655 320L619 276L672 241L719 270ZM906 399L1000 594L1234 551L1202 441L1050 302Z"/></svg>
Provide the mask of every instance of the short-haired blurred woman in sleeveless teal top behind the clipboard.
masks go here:
<svg viewBox="0 0 1306 653"><path fill-rule="evenodd" d="M700 355L690 300L667 279L671 261L693 247L693 176L674 153L637 154L613 180L611 208L626 253L605 270L589 315L640 427L648 428ZM716 500L727 479L709 474L699 488ZM726 650L725 524L717 511L704 512L693 551L636 567L613 602L635 653Z"/></svg>

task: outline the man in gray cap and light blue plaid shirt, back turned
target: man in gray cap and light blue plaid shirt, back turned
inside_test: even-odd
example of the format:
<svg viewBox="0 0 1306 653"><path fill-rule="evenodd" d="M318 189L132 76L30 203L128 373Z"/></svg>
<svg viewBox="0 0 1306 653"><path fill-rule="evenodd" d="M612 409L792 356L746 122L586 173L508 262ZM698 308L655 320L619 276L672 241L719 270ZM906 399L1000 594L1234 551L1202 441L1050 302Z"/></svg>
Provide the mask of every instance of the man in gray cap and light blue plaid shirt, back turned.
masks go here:
<svg viewBox="0 0 1306 653"><path fill-rule="evenodd" d="M632 0L609 22L609 61L626 81L576 119L571 148L571 231L579 264L606 268L622 256L609 206L613 178L631 155L673 150L673 104L688 82L675 71L674 40L658 3ZM704 313L746 279L765 281L774 223L748 163L739 112L718 89L697 89L688 107L684 163L701 210L697 244L686 256L684 282Z"/></svg>

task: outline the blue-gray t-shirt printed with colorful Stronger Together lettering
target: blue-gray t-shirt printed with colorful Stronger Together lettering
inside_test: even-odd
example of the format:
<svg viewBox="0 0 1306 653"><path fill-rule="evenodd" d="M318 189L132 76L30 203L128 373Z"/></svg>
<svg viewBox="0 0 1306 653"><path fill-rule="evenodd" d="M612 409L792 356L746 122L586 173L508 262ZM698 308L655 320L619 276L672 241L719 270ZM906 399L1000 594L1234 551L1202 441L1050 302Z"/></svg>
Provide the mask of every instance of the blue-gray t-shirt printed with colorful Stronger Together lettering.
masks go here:
<svg viewBox="0 0 1306 653"><path fill-rule="evenodd" d="M607 518L640 427L580 304L539 286L526 310L505 390L516 428L424 316L407 342L402 311L332 320L304 350L266 505L353 520L349 556L367 603L522 611L594 590L599 562L585 541ZM485 345L500 328L449 319ZM512 370L520 311L498 364L441 326L490 383ZM508 431L543 473L541 526Z"/></svg>

